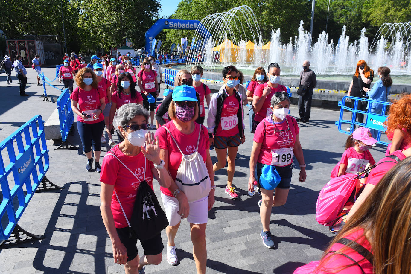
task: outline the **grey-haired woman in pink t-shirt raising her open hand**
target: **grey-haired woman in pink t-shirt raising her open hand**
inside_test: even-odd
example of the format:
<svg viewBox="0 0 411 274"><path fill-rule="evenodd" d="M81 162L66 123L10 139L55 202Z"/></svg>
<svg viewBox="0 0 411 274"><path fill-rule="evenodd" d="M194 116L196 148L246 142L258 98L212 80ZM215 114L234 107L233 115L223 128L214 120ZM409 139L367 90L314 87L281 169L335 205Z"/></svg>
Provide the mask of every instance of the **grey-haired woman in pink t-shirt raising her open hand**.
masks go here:
<svg viewBox="0 0 411 274"><path fill-rule="evenodd" d="M129 237L128 223L140 183L145 181L153 188L155 178L161 187L171 184L154 134L147 131L148 117L141 105L127 104L118 109L115 124L126 138L106 154L100 174L104 226L113 245L114 263L124 264L126 273L143 272L145 265L158 265L164 249L161 233L148 235L152 237L140 239L145 253L140 259L137 239Z"/></svg>

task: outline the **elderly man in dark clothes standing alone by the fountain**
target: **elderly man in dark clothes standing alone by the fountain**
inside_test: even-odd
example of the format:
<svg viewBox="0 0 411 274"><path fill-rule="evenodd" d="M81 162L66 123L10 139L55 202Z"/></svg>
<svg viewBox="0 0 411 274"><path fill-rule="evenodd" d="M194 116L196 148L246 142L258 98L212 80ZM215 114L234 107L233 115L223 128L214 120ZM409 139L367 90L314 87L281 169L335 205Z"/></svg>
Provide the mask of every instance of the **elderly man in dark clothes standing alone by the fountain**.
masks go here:
<svg viewBox="0 0 411 274"><path fill-rule="evenodd" d="M311 99L314 87L317 85L317 79L314 71L309 68L309 60L302 63L300 72L300 86L298 87L298 113L300 118L297 121L308 123L311 114Z"/></svg>

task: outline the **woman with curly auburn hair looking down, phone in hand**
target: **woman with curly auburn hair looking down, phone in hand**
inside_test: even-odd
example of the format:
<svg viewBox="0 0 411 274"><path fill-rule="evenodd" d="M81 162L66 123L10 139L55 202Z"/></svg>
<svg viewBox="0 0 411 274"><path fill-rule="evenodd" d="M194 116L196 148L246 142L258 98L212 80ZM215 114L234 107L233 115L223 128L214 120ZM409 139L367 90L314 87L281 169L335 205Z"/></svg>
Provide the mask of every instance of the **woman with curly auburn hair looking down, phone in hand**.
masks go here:
<svg viewBox="0 0 411 274"><path fill-rule="evenodd" d="M87 157L86 170L91 171L93 165L93 146L96 171L100 172L101 136L104 131L103 111L106 107L104 92L99 89L97 76L89 68L82 68L76 74L78 87L73 90L73 112L77 114L77 130L79 131L83 152Z"/></svg>

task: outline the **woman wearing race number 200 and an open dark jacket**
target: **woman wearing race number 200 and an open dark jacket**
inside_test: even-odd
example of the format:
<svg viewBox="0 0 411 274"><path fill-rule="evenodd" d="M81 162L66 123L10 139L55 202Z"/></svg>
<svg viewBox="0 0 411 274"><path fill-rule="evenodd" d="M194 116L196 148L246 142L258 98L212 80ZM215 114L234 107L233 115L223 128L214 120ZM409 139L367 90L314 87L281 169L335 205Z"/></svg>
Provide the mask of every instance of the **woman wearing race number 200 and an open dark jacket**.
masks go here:
<svg viewBox="0 0 411 274"><path fill-rule="evenodd" d="M236 199L238 195L234 192L232 183L238 146L245 141L244 115L241 95L234 89L238 81L235 79L237 77L236 67L233 65L224 67L222 73L224 88L211 97L208 105L210 111L207 117L207 128L210 145L214 145L217 154L217 162L212 167L213 172L224 168L228 161L225 193L231 199Z"/></svg>

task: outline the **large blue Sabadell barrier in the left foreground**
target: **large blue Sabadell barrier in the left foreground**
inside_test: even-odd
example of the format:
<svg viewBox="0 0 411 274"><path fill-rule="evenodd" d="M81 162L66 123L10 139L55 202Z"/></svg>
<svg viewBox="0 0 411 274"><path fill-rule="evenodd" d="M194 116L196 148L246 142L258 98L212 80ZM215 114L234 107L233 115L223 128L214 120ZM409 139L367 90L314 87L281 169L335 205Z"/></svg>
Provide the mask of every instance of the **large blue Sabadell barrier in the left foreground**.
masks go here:
<svg viewBox="0 0 411 274"><path fill-rule="evenodd" d="M2 141L0 152L0 248L4 248L44 237L28 233L17 222L36 191L61 188L45 176L50 163L41 115Z"/></svg>

